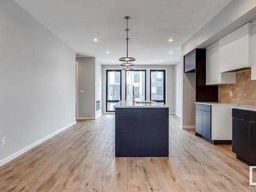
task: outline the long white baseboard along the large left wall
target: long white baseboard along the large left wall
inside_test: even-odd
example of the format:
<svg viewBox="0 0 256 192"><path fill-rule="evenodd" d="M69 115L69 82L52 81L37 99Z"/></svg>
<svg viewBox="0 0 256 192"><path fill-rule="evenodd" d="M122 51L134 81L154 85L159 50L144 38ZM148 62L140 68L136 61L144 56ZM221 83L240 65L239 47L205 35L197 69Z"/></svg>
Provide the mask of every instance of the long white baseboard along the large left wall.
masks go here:
<svg viewBox="0 0 256 192"><path fill-rule="evenodd" d="M2 166L2 165L4 165L4 164L8 163L9 161L15 159L15 158L18 157L18 156L20 156L20 155L26 153L27 151L31 150L31 148L34 148L35 146L37 146L37 145L41 144L42 142L44 142L44 141L50 139L51 137L57 135L58 133L60 133L60 132L62 132L62 131L64 131L64 130L66 130L66 129L68 129L70 126L72 126L72 125L74 125L74 124L76 124L76 121L74 121L74 122L72 122L72 123L66 125L65 127L62 127L62 128L59 129L58 131L56 131L56 132L54 132L54 133L52 133L52 134L50 134L50 135L48 135L48 136L46 136L46 137L44 137L44 138L42 138L42 139L40 139L40 140L38 140L38 141L32 143L31 145L26 146L26 147L23 148L22 150L19 150L18 152L14 153L14 154L12 154L12 155L10 155L10 156L8 156L7 158L0 160L0 166Z"/></svg>

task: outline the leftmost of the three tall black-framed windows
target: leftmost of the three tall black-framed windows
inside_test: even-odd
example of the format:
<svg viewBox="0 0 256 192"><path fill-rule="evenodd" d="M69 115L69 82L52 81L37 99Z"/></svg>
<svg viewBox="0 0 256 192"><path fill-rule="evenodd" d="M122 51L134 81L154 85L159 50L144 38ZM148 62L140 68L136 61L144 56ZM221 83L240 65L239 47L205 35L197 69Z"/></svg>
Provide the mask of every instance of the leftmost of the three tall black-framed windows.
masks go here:
<svg viewBox="0 0 256 192"><path fill-rule="evenodd" d="M115 111L121 100L121 70L106 70L106 112Z"/></svg>

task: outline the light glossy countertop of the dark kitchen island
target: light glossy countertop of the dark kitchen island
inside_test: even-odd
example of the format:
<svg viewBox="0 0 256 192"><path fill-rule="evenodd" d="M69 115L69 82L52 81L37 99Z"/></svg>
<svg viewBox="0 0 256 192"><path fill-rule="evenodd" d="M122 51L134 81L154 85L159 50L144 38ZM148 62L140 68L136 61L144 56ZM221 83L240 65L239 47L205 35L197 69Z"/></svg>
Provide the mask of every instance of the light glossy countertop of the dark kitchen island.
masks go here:
<svg viewBox="0 0 256 192"><path fill-rule="evenodd" d="M119 101L114 105L114 108L168 108L169 106L163 103L148 101L152 103L133 103L132 101Z"/></svg>

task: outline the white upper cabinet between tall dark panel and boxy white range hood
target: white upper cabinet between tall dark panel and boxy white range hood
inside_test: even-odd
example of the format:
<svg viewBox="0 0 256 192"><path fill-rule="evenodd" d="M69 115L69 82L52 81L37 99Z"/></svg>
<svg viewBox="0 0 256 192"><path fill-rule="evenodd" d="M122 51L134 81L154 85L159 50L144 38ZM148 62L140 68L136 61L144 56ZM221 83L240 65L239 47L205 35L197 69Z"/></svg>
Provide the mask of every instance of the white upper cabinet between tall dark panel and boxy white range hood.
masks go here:
<svg viewBox="0 0 256 192"><path fill-rule="evenodd" d="M219 42L206 49L206 84L236 83L236 73L220 73Z"/></svg>

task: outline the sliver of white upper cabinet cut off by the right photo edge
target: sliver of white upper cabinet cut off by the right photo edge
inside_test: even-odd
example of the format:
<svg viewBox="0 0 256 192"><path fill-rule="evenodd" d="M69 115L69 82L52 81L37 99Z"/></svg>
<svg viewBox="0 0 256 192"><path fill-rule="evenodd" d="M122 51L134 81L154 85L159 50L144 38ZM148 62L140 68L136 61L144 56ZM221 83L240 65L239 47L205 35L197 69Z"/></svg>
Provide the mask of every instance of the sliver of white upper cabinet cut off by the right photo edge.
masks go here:
<svg viewBox="0 0 256 192"><path fill-rule="evenodd" d="M251 80L256 79L256 20L251 26Z"/></svg>

